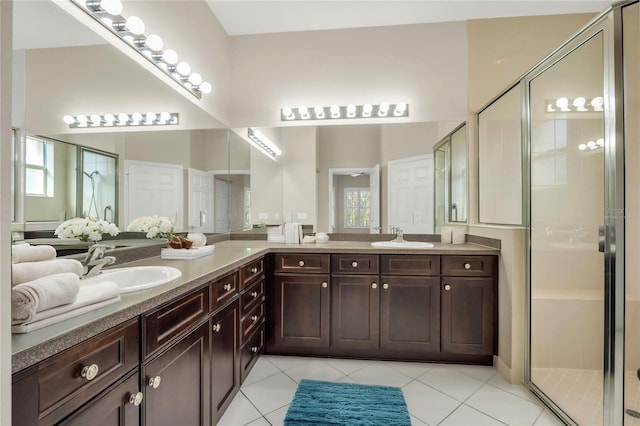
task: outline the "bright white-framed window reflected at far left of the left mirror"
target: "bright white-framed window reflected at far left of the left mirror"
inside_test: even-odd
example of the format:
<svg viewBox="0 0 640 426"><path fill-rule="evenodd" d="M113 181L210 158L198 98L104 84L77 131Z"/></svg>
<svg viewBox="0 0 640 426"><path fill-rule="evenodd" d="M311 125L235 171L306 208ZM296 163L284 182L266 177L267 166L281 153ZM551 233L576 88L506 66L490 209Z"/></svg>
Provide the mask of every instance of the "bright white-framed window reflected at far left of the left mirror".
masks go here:
<svg viewBox="0 0 640 426"><path fill-rule="evenodd" d="M27 137L25 192L29 196L53 197L53 143Z"/></svg>

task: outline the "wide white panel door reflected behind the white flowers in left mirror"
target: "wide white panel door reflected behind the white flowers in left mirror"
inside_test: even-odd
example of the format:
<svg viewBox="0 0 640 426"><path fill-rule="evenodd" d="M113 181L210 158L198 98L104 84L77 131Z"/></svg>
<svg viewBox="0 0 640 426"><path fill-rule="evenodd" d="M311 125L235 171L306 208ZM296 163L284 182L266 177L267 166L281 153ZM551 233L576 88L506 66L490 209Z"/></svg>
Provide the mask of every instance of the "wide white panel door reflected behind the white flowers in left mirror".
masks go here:
<svg viewBox="0 0 640 426"><path fill-rule="evenodd" d="M172 217L183 230L183 167L176 164L125 161L125 224L140 216Z"/></svg>

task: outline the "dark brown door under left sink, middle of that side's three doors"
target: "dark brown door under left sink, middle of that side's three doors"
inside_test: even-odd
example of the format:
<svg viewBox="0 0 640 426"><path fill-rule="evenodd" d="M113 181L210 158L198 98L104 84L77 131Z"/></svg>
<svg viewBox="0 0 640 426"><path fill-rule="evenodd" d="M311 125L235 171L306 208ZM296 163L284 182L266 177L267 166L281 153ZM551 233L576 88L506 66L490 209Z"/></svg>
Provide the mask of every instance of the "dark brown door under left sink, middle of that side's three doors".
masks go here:
<svg viewBox="0 0 640 426"><path fill-rule="evenodd" d="M144 424L208 425L210 366L209 321L206 321L144 364Z"/></svg>

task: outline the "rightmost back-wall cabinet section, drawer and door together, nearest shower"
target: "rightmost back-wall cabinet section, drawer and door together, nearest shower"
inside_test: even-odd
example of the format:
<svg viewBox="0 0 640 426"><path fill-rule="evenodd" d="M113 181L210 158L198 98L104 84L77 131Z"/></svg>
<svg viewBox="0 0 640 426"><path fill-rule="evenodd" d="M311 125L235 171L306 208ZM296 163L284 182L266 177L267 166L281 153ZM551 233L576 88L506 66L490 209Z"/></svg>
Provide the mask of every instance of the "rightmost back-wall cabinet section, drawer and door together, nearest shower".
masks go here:
<svg viewBox="0 0 640 426"><path fill-rule="evenodd" d="M497 350L497 257L442 257L442 352Z"/></svg>

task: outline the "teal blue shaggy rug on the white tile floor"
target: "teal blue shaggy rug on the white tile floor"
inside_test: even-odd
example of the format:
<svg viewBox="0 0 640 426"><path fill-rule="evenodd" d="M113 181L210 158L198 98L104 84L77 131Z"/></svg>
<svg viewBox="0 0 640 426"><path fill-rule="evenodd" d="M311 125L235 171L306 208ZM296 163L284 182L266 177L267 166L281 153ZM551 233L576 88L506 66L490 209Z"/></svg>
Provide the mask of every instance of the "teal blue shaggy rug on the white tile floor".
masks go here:
<svg viewBox="0 0 640 426"><path fill-rule="evenodd" d="M284 424L410 426L411 419L400 388L305 379Z"/></svg>

